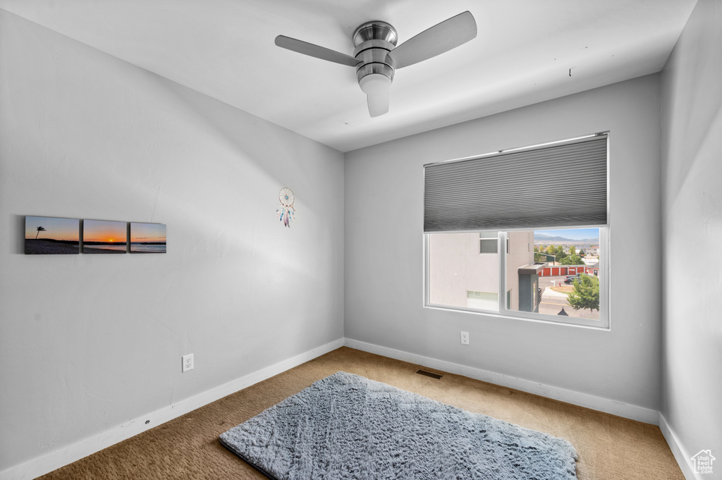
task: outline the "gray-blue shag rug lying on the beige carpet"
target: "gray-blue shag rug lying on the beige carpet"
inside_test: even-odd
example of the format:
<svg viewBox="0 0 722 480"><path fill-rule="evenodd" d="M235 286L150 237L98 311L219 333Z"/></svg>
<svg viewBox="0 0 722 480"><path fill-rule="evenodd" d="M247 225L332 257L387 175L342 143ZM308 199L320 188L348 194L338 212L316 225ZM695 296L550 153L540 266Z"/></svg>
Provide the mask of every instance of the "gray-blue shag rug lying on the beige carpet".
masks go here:
<svg viewBox="0 0 722 480"><path fill-rule="evenodd" d="M566 440L346 372L221 436L271 479L576 479Z"/></svg>

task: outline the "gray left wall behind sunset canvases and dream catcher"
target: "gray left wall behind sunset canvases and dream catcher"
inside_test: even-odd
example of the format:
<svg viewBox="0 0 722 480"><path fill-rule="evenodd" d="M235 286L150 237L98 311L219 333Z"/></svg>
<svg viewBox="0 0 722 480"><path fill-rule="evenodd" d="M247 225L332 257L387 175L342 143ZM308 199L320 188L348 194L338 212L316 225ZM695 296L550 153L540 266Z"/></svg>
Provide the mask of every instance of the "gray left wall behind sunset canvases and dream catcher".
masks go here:
<svg viewBox="0 0 722 480"><path fill-rule="evenodd" d="M342 154L2 10L0 62L0 471L342 338ZM168 253L25 256L26 214Z"/></svg>

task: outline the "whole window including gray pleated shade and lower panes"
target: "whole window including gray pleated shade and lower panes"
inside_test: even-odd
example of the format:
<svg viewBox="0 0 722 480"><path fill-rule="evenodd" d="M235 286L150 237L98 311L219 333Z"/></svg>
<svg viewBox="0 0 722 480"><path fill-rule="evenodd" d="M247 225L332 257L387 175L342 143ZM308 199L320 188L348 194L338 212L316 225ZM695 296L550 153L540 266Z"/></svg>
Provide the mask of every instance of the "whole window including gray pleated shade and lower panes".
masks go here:
<svg viewBox="0 0 722 480"><path fill-rule="evenodd" d="M426 165L425 305L608 328L606 147L597 134Z"/></svg>

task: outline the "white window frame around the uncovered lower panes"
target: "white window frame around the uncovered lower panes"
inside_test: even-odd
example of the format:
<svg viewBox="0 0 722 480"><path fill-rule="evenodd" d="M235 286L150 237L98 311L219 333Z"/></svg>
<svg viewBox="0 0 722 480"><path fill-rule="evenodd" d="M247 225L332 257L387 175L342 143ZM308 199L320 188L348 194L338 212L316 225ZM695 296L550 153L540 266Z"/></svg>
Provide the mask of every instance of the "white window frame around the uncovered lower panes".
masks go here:
<svg viewBox="0 0 722 480"><path fill-rule="evenodd" d="M496 310L479 310L471 307L458 307L454 305L438 305L430 303L430 235L439 233L465 233L463 231L454 232L427 232L424 233L424 302L425 308L445 311L459 311L463 313L473 313L475 315L486 315L497 318L508 318L513 320L526 320L541 323L552 323L554 325L567 325L577 326L583 328L594 328L598 330L609 331L611 329L610 315L609 315L609 287L611 285L609 278L609 225L592 225L589 227L557 227L549 228L544 227L544 230L569 230L576 228L599 228L599 320L592 320L589 318L575 318L571 316L560 316L560 315L549 315L546 313L534 313L534 312L522 312L518 310L509 310L507 305L507 279L506 279L506 263L508 250L505 248L503 253L497 253L499 256L499 292L505 292L505 294L498 294L498 306L499 311ZM498 232L498 242L500 245L505 245L508 241L508 232L514 231L531 231L533 228L520 228L515 230L502 230ZM536 229L539 230L539 229ZM469 233L469 231L466 231ZM500 250L497 248L497 251ZM480 255L483 255L480 253ZM513 287L512 287L513 288Z"/></svg>

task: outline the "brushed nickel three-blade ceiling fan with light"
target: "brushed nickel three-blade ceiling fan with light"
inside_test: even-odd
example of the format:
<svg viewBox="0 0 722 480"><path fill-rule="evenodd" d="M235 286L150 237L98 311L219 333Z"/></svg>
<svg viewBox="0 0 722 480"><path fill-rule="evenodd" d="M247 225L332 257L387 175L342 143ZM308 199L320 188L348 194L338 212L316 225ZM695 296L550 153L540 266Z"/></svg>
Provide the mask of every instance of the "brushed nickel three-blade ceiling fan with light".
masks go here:
<svg viewBox="0 0 722 480"><path fill-rule="evenodd" d="M368 112L372 117L378 117L388 112L388 90L396 69L450 51L476 36L474 16L471 12L464 12L424 30L398 47L396 29L391 25L379 20L365 22L352 35L355 46L353 56L284 35L276 37L276 45L355 67L359 86L367 95Z"/></svg>

